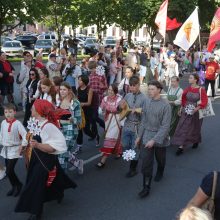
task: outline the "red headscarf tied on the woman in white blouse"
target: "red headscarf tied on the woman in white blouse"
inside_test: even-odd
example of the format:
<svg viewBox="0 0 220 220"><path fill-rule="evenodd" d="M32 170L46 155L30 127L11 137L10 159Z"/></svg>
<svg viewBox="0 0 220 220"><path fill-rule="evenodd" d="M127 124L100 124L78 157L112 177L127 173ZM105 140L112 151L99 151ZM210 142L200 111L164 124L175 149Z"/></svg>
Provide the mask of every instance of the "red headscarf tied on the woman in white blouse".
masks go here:
<svg viewBox="0 0 220 220"><path fill-rule="evenodd" d="M63 116L70 114L68 110L55 109L54 105L47 100L37 99L34 102L34 107L37 113L48 120L48 122L53 123L59 127L58 120Z"/></svg>

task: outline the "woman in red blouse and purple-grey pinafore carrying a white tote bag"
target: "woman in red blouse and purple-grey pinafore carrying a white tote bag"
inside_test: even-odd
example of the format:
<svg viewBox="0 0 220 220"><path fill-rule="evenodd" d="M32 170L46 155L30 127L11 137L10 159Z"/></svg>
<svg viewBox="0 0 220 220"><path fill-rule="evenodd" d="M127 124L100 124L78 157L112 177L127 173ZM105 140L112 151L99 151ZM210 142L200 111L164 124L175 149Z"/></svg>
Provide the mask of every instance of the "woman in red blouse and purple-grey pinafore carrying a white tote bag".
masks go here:
<svg viewBox="0 0 220 220"><path fill-rule="evenodd" d="M190 87L183 91L181 104L181 117L174 133L172 144L179 146L176 155L183 153L184 146L193 144L197 148L201 142L202 119L199 119L199 109L206 107L208 98L205 89L198 86L199 76L189 76ZM200 99L201 91L201 99ZM197 104L200 101L200 104ZM194 110L190 110L194 106Z"/></svg>

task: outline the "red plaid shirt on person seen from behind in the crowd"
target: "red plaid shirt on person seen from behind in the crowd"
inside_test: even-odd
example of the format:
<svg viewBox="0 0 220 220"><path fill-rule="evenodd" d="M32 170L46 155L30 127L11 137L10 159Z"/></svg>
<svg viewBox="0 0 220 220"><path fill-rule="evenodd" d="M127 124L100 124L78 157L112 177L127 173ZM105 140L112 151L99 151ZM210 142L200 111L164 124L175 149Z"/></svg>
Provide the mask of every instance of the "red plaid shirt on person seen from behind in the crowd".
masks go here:
<svg viewBox="0 0 220 220"><path fill-rule="evenodd" d="M103 88L102 84L104 85ZM89 87L93 90L92 107L99 107L104 97L104 92L108 88L105 76L91 73L89 75Z"/></svg>

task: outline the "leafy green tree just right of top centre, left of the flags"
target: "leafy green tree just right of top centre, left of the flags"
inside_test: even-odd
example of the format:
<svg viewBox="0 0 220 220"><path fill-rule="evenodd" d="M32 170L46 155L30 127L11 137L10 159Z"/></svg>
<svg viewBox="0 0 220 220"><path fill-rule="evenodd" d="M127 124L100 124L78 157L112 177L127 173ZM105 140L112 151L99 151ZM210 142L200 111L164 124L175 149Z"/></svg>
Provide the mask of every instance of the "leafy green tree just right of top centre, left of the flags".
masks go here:
<svg viewBox="0 0 220 220"><path fill-rule="evenodd" d="M116 11L117 16L114 21L124 31L128 32L128 44L131 46L132 32L142 26L143 0L118 0Z"/></svg>

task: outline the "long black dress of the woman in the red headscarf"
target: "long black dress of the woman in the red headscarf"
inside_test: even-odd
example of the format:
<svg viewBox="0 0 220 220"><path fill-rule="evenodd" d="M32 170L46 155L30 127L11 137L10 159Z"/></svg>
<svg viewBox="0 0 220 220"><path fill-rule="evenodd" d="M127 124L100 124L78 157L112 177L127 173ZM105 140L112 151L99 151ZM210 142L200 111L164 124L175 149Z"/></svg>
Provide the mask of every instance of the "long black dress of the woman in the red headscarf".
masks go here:
<svg viewBox="0 0 220 220"><path fill-rule="evenodd" d="M41 142L40 136L33 139ZM48 187L48 170L57 168L57 175ZM33 148L25 186L15 208L15 212L28 212L39 215L43 211L44 202L63 198L64 190L77 185L62 170L57 155L48 154Z"/></svg>

